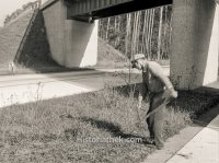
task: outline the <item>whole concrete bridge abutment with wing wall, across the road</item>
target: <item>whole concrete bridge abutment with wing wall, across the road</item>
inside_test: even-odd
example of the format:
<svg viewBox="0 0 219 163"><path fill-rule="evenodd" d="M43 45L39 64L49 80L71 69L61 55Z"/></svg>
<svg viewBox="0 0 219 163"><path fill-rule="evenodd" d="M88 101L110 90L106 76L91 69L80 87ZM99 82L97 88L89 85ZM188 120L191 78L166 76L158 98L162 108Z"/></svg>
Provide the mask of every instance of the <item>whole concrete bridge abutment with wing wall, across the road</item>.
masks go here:
<svg viewBox="0 0 219 163"><path fill-rule="evenodd" d="M51 58L68 68L96 65L97 21L85 23L67 20L64 0L46 3L42 10Z"/></svg>

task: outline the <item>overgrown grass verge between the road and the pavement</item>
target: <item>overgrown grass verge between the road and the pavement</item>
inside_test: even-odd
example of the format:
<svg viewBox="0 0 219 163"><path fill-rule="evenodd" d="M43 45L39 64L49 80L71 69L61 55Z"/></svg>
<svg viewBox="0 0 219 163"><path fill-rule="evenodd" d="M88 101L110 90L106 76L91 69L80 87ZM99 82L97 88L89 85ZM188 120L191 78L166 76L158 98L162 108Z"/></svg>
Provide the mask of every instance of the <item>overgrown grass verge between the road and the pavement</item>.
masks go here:
<svg viewBox="0 0 219 163"><path fill-rule="evenodd" d="M132 88L137 92L138 85ZM135 93L127 86L107 85L102 91L2 108L0 162L142 161L154 147L145 142L149 132L145 120L139 126ZM165 109L164 137L177 133L216 103L218 96L181 91Z"/></svg>

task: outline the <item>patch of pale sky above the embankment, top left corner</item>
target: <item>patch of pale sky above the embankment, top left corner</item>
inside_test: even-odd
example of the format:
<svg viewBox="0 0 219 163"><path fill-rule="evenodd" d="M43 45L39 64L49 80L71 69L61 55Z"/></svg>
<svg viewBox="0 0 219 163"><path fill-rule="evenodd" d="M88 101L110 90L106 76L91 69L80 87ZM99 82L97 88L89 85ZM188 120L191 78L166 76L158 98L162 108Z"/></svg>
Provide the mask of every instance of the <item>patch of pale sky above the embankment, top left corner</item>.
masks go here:
<svg viewBox="0 0 219 163"><path fill-rule="evenodd" d="M3 25L3 21L8 14L11 14L16 9L21 9L23 4L33 1L36 0L0 0L0 26Z"/></svg>

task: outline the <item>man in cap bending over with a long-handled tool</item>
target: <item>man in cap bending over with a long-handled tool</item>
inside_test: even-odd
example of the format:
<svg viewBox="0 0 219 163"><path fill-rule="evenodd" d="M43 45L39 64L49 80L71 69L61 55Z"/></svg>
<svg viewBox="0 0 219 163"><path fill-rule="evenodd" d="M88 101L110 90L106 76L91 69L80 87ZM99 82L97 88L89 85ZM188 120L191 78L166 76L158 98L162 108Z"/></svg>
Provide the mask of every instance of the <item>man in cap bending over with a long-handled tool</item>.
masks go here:
<svg viewBox="0 0 219 163"><path fill-rule="evenodd" d="M138 54L131 59L132 68L142 72L142 83L139 90L138 109L146 96L149 97L149 110L147 113L148 129L150 139L158 149L163 148L162 126L164 120L164 108L170 98L176 98L177 92L174 90L170 79L164 75L162 67L155 61L149 61L143 54Z"/></svg>

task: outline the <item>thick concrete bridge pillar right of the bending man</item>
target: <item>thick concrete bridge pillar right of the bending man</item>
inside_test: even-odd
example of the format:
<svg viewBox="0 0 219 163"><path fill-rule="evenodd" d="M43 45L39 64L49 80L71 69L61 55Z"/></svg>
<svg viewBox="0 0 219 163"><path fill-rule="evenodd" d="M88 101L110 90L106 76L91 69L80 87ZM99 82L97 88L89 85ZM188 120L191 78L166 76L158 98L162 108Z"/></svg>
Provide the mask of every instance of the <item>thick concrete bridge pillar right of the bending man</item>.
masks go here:
<svg viewBox="0 0 219 163"><path fill-rule="evenodd" d="M218 9L214 0L173 0L171 80L177 89L217 81Z"/></svg>

